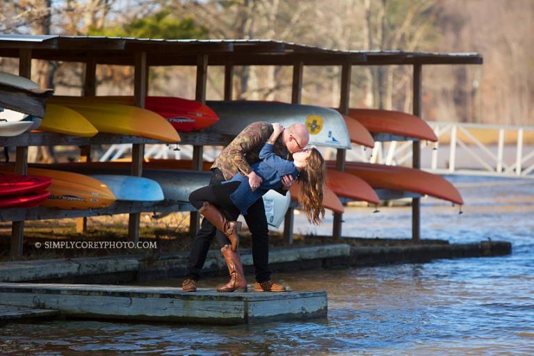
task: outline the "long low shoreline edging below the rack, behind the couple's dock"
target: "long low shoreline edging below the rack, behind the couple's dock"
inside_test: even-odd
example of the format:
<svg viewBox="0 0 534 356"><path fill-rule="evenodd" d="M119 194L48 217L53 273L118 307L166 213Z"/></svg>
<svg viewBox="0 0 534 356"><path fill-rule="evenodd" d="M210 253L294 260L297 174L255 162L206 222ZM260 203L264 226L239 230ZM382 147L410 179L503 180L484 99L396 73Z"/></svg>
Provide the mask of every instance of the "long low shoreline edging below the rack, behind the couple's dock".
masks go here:
<svg viewBox="0 0 534 356"><path fill-rule="evenodd" d="M349 240L347 238L347 240ZM426 263L434 259L492 257L510 254L505 241L480 243L421 243L418 245L350 246L346 243L271 248L273 272L318 268L363 267L383 264ZM253 273L252 254L242 251L245 273ZM166 254L156 260L145 255L122 255L79 259L13 261L0 265L0 282L56 282L124 284L133 281L183 277L188 253ZM218 250L208 253L203 273L225 275L227 268Z"/></svg>

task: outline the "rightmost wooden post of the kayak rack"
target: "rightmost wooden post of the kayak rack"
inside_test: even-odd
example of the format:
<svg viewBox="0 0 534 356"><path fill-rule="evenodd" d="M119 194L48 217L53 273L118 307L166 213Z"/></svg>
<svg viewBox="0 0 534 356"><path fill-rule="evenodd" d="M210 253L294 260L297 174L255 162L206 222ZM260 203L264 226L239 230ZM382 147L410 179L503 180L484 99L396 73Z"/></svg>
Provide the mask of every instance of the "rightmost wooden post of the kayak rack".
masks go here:
<svg viewBox="0 0 534 356"><path fill-rule="evenodd" d="M413 114L421 118L421 98L422 98L422 65L414 65L413 80ZM415 140L412 146L412 167L421 168L421 145L419 140ZM421 198L412 198L412 241L421 239Z"/></svg>

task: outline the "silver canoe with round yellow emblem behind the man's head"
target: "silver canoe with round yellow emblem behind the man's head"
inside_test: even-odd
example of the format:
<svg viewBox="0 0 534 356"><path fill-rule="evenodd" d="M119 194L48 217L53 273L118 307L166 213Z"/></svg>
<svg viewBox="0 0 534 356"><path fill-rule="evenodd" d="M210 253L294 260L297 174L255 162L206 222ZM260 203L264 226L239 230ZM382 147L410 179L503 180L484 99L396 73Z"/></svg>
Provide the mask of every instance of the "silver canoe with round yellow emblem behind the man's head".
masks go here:
<svg viewBox="0 0 534 356"><path fill-rule="evenodd" d="M331 108L282 102L207 102L220 121L207 132L236 136L252 122L280 122L284 127L305 124L309 144L350 149L350 137L343 116Z"/></svg>

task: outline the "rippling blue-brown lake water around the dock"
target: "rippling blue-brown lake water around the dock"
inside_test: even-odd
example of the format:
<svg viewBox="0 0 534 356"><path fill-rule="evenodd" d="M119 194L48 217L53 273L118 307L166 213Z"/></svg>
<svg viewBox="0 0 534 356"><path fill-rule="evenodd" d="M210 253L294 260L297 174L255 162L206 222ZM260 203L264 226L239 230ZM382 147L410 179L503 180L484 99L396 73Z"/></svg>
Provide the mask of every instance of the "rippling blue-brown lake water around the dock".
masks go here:
<svg viewBox="0 0 534 356"><path fill-rule="evenodd" d="M325 289L325 320L231 327L8 324L0 327L0 355L534 355L534 181L453 181L466 202L464 214L424 199L423 238L510 241L510 256L275 275L291 289ZM410 207L380 210L349 208L343 235L410 237ZM296 218L300 232L331 229L330 217L318 229ZM225 278L202 280L202 286L220 282Z"/></svg>

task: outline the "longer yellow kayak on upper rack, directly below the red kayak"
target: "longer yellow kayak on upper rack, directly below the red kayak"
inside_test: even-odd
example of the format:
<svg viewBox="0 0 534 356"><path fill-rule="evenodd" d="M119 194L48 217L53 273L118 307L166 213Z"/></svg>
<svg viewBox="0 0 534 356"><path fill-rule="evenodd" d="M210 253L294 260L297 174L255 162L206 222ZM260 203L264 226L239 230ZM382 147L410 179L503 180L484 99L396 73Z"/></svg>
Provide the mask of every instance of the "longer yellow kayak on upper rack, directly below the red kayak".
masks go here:
<svg viewBox="0 0 534 356"><path fill-rule="evenodd" d="M177 143L180 136L161 115L136 106L69 103L68 108L86 118L99 132L141 136Z"/></svg>

